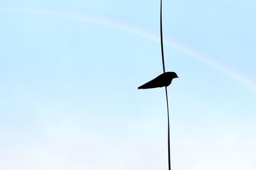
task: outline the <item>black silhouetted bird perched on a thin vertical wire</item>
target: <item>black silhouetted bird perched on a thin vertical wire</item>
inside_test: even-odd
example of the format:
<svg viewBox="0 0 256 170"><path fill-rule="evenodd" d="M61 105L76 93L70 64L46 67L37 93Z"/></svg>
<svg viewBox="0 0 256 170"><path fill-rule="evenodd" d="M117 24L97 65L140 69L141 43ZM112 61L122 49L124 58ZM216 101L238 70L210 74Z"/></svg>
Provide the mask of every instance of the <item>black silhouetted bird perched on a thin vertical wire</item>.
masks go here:
<svg viewBox="0 0 256 170"><path fill-rule="evenodd" d="M147 83L138 87L138 89L153 89L157 87L168 87L171 83L173 78L179 78L175 72L166 72L160 74L153 80L148 81Z"/></svg>

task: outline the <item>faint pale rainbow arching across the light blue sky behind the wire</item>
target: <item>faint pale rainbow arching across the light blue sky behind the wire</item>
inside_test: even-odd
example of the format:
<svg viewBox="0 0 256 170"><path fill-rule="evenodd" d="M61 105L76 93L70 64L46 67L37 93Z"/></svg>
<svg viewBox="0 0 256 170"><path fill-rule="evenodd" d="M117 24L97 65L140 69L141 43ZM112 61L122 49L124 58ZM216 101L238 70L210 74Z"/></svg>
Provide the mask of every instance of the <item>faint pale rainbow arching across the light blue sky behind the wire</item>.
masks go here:
<svg viewBox="0 0 256 170"><path fill-rule="evenodd" d="M136 34L138 36L143 36L144 38L151 39L152 41L159 41L159 34L154 34L153 32L145 31L140 27L135 27L134 25L124 24L118 21L110 20L108 18L102 17L93 17L88 15L83 15L81 13L74 13L71 11L61 11L61 10L40 10L40 9L32 9L32 8L0 8L0 13L25 13L25 14L36 14L36 15L49 15L54 17L68 18L70 20L77 20L79 22L88 22L90 24L102 25L104 27L111 27L114 29L118 29L121 31L129 32L131 34ZM216 67L223 73L228 76L234 78L234 80L248 87L249 89L256 92L256 83L241 73L238 73L234 69L231 69L228 66L212 59L208 55L204 53L198 52L193 48L189 48L189 46L182 45L177 41L173 41L172 39L164 39L164 45L171 46L172 48L176 48L182 52L188 53L189 55L195 57L196 59L202 60L207 64Z"/></svg>

